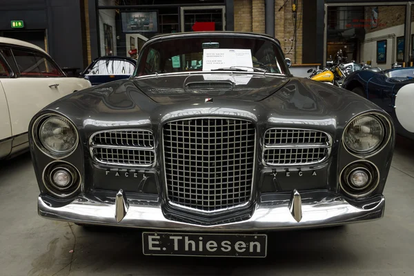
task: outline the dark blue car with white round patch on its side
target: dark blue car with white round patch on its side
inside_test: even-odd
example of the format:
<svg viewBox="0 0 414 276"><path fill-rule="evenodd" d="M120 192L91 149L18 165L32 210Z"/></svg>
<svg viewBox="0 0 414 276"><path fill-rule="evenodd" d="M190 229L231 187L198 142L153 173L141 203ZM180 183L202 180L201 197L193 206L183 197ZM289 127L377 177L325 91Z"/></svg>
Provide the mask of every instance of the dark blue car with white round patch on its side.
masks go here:
<svg viewBox="0 0 414 276"><path fill-rule="evenodd" d="M380 106L393 117L399 135L414 139L414 67L353 72L342 88Z"/></svg>

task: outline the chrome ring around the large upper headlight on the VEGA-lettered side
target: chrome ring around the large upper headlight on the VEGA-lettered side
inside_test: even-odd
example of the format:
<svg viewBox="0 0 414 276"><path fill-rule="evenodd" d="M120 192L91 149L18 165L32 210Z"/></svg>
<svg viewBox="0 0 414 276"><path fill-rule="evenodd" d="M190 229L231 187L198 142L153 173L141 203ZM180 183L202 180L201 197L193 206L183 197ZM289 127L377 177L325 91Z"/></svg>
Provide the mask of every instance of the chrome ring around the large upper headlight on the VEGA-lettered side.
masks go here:
<svg viewBox="0 0 414 276"><path fill-rule="evenodd" d="M350 128L351 123L355 119L358 119L359 117L363 117L363 116L371 116L377 121L379 121L382 126L384 135L380 143L377 146L375 146L375 148L371 148L365 151L362 151L362 150L357 151L357 150L353 150L353 148L351 148L350 146L348 146L348 144L346 144L345 135L348 129ZM348 124L346 124L344 128L344 132L342 133L342 144L344 145L344 148L346 149L346 151L355 157L358 157L358 158L372 157L373 155L376 155L378 152L381 152L386 146L386 144L388 144L388 141L391 139L391 133L392 133L391 121L385 115L383 115L380 112L365 112L365 113L362 113L362 114L359 114L353 117L351 120L348 121Z"/></svg>

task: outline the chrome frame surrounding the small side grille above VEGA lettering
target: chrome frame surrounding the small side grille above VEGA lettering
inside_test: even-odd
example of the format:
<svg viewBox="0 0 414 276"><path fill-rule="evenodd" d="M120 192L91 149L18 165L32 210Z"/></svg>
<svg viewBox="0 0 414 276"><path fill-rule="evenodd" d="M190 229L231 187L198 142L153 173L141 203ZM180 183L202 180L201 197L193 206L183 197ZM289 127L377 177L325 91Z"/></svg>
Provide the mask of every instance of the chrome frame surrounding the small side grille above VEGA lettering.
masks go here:
<svg viewBox="0 0 414 276"><path fill-rule="evenodd" d="M315 132L322 132L326 135L326 137L328 137L328 141L324 144L324 143L313 143L313 144L282 144L282 145L273 145L273 146L268 146L265 144L264 139L266 137L266 132L268 132L269 130L304 130L304 131L315 131ZM324 161L326 161L330 156L331 156L331 151L332 151L332 146L333 146L333 139L332 136L325 131L322 130L315 130L315 129L309 129L309 128L281 128L281 127L276 127L276 128L268 128L266 129L266 131L264 132L263 135L263 146L262 146L262 164L264 164L264 166L269 166L269 167L291 167L291 166L309 166L309 165L317 165L317 164L321 164L324 163ZM295 163L295 164L273 164L273 163L269 163L264 159L264 154L266 152L266 150L269 149L274 149L274 148L326 148L328 150L328 152L326 153L326 156L319 160L319 161L313 161L313 162L306 162L306 163Z"/></svg>

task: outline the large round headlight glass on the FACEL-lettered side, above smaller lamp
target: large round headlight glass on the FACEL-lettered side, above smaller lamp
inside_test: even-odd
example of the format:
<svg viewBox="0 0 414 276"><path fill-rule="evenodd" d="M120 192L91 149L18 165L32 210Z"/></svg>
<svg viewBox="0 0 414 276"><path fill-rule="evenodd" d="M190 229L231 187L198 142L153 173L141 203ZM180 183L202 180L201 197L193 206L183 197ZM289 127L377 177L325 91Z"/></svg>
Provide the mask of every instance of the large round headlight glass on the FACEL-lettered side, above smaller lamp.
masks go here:
<svg viewBox="0 0 414 276"><path fill-rule="evenodd" d="M77 132L68 119L48 117L39 128L42 146L55 155L66 155L77 146Z"/></svg>

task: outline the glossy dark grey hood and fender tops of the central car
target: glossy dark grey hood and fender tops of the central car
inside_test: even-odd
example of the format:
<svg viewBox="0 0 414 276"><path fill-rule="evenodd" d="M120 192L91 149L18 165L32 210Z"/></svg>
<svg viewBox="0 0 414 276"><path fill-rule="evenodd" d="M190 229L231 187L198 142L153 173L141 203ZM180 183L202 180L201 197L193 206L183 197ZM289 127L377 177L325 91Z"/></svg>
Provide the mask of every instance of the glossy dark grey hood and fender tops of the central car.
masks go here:
<svg viewBox="0 0 414 276"><path fill-rule="evenodd" d="M157 132L166 121L211 116L244 118L264 129L319 129L334 137L336 130L343 129L355 115L367 110L381 112L353 92L304 78L252 77L248 85L234 83L228 92L189 92L183 87L188 79L175 78L104 83L63 97L41 113L65 115L86 139L108 128L150 128Z"/></svg>

